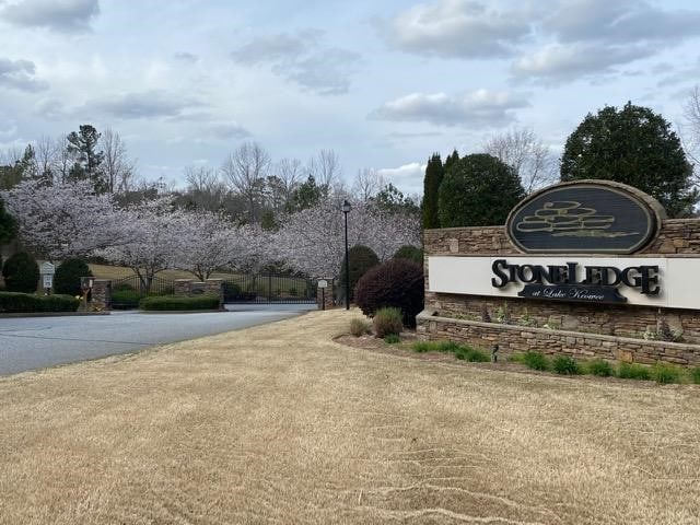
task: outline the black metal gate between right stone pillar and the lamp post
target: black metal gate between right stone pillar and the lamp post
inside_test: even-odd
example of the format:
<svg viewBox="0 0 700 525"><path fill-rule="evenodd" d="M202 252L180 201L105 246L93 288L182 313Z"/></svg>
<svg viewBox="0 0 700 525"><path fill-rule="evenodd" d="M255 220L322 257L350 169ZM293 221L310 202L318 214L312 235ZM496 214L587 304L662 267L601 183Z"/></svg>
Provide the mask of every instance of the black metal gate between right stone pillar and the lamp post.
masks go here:
<svg viewBox="0 0 700 525"><path fill-rule="evenodd" d="M223 281L225 303L315 303L316 281L289 276L237 276Z"/></svg>

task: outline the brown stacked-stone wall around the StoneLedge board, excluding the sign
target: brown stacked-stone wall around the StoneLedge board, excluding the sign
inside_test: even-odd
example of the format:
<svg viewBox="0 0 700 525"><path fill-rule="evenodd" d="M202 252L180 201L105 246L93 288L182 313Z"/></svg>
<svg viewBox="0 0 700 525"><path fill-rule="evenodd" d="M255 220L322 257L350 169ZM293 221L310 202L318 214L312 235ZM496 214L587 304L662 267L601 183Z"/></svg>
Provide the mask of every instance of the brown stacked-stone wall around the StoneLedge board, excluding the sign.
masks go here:
<svg viewBox="0 0 700 525"><path fill-rule="evenodd" d="M700 299L698 301L699 310L674 310L432 293L428 291L428 257L431 255L522 256L523 254L509 241L505 226L427 230L423 240L425 248L425 310L419 317L418 331L424 338L447 337L483 346L492 343L491 339L481 337L483 334L488 332L491 338L494 338L497 334L502 334L504 341L506 341L506 348L572 353L572 345L574 343L571 343L571 337L574 336L571 334L573 332L576 334L574 341L576 346L581 347L580 352L594 352L595 355L607 358L629 352L629 355L639 358L640 362L653 362L654 358L650 355L681 364L698 362L695 358L674 361L676 355L666 355L664 349L669 348L676 351L676 343L645 341L642 339L642 334L648 330L656 331L661 324L665 323L672 331L682 334L682 340L686 343L684 347L687 347L684 350L686 353L691 351L695 355L699 355L700 347L696 345L700 345ZM626 257L656 255L700 257L700 220L664 220L658 236L644 252ZM505 311L510 316L510 323L515 326L495 323L497 316L502 315ZM492 323L479 323L485 318L485 313L488 313ZM433 317L429 322L428 317L430 316ZM533 326L522 326L526 324ZM537 329L545 324L556 329L544 328L545 331ZM530 332L537 334L537 336L525 336ZM592 346L590 341L597 340L594 334L609 336L614 340L632 338L633 342L629 342L628 339L619 345L616 342L611 347ZM545 338L545 336L547 337ZM542 341L548 342L539 348L538 346L542 345ZM606 342L610 342L610 340L606 340ZM615 348L616 350L600 353L594 350L596 348ZM644 350L639 351L640 348ZM629 358L628 353L625 355Z"/></svg>

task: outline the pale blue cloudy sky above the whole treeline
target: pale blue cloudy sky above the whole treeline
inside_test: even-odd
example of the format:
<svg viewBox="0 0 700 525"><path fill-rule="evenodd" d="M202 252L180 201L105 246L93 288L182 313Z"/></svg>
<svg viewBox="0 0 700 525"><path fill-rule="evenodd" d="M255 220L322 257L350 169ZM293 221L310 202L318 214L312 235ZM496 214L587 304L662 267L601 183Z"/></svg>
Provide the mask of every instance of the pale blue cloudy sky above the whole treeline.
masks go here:
<svg viewBox="0 0 700 525"><path fill-rule="evenodd" d="M416 192L433 151L560 151L628 100L678 122L700 83L690 0L0 0L0 149L110 127L171 182L254 140Z"/></svg>

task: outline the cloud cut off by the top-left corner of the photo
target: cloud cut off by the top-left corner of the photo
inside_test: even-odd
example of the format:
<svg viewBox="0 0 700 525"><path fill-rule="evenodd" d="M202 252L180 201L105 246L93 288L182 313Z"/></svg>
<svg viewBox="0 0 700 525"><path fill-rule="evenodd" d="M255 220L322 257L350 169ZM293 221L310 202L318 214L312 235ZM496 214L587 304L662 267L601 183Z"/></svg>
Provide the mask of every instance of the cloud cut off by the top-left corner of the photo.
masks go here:
<svg viewBox="0 0 700 525"><path fill-rule="evenodd" d="M67 33L89 31L98 14L98 0L23 0L0 11L0 18L14 25Z"/></svg>

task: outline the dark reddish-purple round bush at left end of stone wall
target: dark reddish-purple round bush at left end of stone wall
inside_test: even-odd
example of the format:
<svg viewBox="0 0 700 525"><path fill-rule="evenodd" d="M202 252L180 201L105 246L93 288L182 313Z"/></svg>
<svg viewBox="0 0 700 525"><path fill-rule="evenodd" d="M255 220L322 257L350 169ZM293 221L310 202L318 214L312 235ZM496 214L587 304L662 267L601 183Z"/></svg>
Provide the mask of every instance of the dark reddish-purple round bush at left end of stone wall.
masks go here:
<svg viewBox="0 0 700 525"><path fill-rule="evenodd" d="M397 307L404 325L415 327L423 310L423 267L408 259L390 259L369 270L354 290L354 302L364 315L373 316L383 307Z"/></svg>

